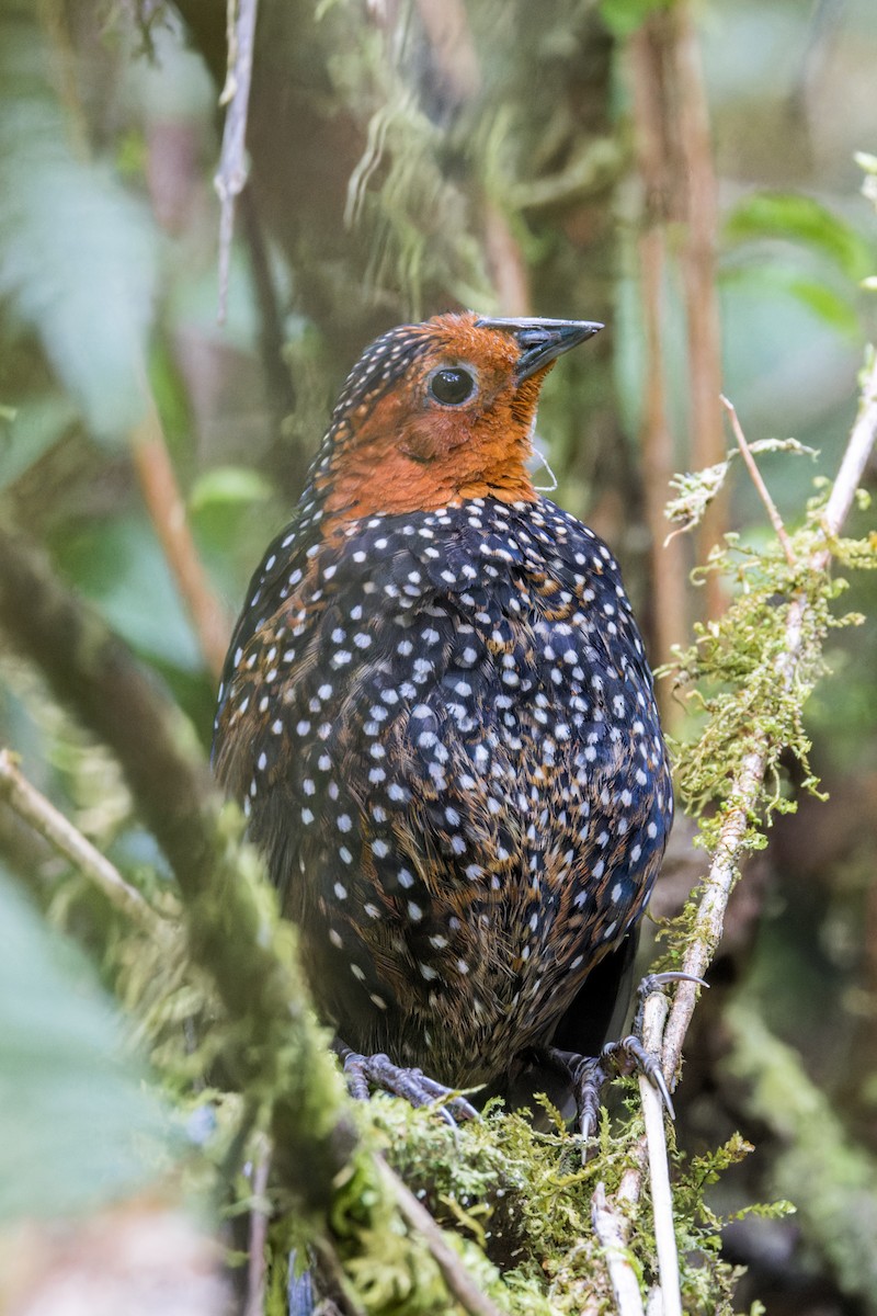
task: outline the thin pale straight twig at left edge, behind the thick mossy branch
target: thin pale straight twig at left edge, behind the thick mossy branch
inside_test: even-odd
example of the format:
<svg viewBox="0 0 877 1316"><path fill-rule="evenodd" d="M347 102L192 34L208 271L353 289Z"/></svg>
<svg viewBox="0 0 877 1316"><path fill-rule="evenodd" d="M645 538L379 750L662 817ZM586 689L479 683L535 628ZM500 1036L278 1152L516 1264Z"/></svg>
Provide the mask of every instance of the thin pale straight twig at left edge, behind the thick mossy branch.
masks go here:
<svg viewBox="0 0 877 1316"><path fill-rule="evenodd" d="M8 749L0 749L0 799L59 854L70 859L117 909L149 932L155 932L162 925L160 915L143 900L139 891L129 886L118 869L30 784L16 767L14 757Z"/></svg>

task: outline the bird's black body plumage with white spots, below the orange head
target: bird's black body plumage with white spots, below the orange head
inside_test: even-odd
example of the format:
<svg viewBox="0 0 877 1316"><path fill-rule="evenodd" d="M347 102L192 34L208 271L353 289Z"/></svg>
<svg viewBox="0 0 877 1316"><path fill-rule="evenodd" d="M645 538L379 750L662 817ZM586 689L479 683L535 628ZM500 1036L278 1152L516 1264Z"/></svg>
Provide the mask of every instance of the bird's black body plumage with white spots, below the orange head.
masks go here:
<svg viewBox="0 0 877 1316"><path fill-rule="evenodd" d="M254 576L217 771L343 1041L496 1083L551 1042L661 859L642 640L607 547L546 499L323 538L316 487Z"/></svg>

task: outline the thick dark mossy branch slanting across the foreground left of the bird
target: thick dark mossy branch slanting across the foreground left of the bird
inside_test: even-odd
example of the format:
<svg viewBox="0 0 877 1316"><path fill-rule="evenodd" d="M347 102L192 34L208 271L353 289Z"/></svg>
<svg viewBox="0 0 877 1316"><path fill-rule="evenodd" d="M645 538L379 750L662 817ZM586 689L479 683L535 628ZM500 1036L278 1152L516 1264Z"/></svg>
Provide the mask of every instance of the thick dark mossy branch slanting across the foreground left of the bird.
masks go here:
<svg viewBox="0 0 877 1316"><path fill-rule="evenodd" d="M193 963L226 1016L222 1063L267 1107L281 1184L325 1211L355 1144L325 1038L308 1011L292 929L242 820L214 792L188 724L100 617L0 529L0 628L117 755L178 880Z"/></svg>

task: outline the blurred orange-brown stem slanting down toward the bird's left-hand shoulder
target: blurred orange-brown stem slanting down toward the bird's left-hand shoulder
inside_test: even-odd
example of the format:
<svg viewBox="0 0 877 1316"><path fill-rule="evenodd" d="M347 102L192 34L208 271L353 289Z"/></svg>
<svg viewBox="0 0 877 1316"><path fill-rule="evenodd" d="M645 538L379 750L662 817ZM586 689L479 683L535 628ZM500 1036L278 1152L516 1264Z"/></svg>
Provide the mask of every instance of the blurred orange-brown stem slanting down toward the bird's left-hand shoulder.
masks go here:
<svg viewBox="0 0 877 1316"><path fill-rule="evenodd" d="M231 628L195 546L185 503L151 399L143 420L131 432L131 455L146 509L192 619L205 666L218 680Z"/></svg>

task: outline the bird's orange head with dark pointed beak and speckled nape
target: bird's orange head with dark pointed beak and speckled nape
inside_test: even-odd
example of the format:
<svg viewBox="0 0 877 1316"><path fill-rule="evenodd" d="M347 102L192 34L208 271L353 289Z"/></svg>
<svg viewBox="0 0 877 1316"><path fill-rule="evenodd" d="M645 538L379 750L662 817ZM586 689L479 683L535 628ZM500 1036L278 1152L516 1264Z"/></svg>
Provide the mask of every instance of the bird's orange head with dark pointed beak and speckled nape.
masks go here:
<svg viewBox="0 0 877 1316"><path fill-rule="evenodd" d="M344 384L317 467L326 528L469 497L535 499L527 461L542 382L601 328L467 312L377 338Z"/></svg>

